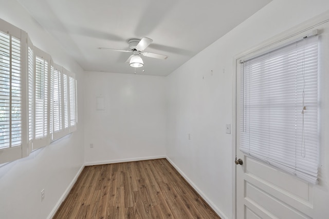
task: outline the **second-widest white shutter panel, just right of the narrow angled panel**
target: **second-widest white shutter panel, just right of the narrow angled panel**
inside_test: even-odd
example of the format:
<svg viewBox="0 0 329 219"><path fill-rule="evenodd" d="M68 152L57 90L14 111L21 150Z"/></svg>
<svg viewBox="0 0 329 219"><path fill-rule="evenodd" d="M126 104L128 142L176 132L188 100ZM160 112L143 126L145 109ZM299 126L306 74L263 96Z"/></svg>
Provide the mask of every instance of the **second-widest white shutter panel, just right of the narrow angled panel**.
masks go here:
<svg viewBox="0 0 329 219"><path fill-rule="evenodd" d="M33 149L49 144L50 56L34 47L34 141Z"/></svg>

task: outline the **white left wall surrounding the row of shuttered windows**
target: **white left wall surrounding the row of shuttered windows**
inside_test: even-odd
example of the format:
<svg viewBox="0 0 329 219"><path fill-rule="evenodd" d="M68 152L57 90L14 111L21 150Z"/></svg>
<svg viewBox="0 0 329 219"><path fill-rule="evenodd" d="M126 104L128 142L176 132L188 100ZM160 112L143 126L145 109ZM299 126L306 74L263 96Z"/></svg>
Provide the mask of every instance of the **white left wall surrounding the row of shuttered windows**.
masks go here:
<svg viewBox="0 0 329 219"><path fill-rule="evenodd" d="M0 1L1 18L28 32L33 44L53 61L75 72L78 87L84 71L15 0ZM0 166L0 218L47 218L84 163L83 89L78 93L78 131L28 157ZM41 202L41 190L45 199Z"/></svg>

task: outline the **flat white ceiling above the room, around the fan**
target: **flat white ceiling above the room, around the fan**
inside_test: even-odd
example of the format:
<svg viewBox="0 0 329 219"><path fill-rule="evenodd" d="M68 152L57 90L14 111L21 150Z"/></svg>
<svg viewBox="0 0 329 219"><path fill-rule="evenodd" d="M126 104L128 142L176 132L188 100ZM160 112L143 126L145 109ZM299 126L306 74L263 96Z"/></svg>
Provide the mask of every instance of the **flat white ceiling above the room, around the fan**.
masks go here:
<svg viewBox="0 0 329 219"><path fill-rule="evenodd" d="M153 39L137 74L166 76L271 0L19 0L86 71L135 72L125 63L130 38ZM33 40L33 39L32 39ZM142 70L145 70L142 72Z"/></svg>

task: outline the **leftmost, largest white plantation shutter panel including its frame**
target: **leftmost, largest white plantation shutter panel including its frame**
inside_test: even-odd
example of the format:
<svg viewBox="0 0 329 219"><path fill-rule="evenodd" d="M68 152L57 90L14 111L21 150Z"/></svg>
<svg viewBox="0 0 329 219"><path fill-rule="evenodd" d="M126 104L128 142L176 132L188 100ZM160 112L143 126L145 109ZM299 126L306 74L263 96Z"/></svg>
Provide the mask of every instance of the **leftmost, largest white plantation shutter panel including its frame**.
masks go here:
<svg viewBox="0 0 329 219"><path fill-rule="evenodd" d="M0 163L5 163L26 155L22 116L26 33L1 19L0 27Z"/></svg>

